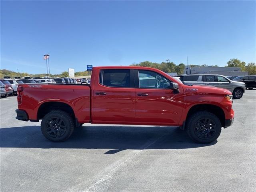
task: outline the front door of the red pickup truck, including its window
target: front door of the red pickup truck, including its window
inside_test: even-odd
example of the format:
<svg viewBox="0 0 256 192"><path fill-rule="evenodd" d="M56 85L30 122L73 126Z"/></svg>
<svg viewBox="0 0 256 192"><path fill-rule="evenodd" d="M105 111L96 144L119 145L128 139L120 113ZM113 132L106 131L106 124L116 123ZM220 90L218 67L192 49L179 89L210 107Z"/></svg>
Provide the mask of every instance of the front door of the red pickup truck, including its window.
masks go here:
<svg viewBox="0 0 256 192"><path fill-rule="evenodd" d="M169 88L170 80L150 70L134 70L134 77L136 121L145 125L177 125L182 114L183 90L174 93Z"/></svg>

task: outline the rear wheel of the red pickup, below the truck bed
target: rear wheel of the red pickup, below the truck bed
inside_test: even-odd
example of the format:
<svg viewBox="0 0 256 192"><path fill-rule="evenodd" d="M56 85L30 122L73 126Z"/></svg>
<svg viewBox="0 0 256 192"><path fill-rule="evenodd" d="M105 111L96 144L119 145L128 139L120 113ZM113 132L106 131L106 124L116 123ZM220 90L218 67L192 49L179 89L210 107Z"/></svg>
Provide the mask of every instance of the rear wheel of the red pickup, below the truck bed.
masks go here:
<svg viewBox="0 0 256 192"><path fill-rule="evenodd" d="M74 120L64 111L52 110L42 119L41 131L52 142L65 141L74 131Z"/></svg>

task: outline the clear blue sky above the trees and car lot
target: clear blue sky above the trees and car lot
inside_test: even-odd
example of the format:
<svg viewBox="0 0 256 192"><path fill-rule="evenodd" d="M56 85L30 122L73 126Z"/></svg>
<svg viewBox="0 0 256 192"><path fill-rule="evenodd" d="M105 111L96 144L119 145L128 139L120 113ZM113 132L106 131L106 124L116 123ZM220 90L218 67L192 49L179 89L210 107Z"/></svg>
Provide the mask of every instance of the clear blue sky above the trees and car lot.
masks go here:
<svg viewBox="0 0 256 192"><path fill-rule="evenodd" d="M4 1L1 69L255 62L255 1Z"/></svg>

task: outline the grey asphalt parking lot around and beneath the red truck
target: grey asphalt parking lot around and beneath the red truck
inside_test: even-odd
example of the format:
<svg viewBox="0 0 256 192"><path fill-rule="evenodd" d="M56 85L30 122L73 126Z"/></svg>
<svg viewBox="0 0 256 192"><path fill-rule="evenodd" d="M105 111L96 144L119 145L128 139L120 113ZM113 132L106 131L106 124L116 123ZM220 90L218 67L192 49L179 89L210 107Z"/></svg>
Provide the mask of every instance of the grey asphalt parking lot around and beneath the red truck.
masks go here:
<svg viewBox="0 0 256 192"><path fill-rule="evenodd" d="M256 89L207 145L176 127L91 124L52 143L16 108L16 97L0 99L1 192L256 190Z"/></svg>

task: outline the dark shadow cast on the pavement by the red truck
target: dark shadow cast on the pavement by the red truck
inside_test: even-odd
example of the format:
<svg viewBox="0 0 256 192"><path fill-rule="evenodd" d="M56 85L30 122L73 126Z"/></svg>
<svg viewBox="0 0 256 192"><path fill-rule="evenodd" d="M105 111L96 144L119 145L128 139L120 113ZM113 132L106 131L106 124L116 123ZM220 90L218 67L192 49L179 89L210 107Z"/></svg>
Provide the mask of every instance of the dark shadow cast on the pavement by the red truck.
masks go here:
<svg viewBox="0 0 256 192"><path fill-rule="evenodd" d="M40 126L0 129L1 148L109 149L115 154L126 149L186 149L216 144L197 144L178 127L168 126L83 126L65 142L48 141Z"/></svg>

